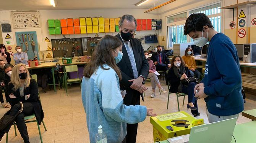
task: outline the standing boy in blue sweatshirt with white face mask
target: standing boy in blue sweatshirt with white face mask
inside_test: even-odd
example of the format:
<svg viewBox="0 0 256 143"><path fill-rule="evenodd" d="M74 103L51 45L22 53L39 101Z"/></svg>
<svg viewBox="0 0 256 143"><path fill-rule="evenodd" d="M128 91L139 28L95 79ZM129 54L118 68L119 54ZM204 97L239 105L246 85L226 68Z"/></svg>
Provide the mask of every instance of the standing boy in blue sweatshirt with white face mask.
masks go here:
<svg viewBox="0 0 256 143"><path fill-rule="evenodd" d="M204 78L194 88L195 97L204 98L206 102L209 123L238 118L244 107L235 45L226 35L215 31L210 19L203 13L188 17L184 35L193 38L194 44L199 47L209 41Z"/></svg>

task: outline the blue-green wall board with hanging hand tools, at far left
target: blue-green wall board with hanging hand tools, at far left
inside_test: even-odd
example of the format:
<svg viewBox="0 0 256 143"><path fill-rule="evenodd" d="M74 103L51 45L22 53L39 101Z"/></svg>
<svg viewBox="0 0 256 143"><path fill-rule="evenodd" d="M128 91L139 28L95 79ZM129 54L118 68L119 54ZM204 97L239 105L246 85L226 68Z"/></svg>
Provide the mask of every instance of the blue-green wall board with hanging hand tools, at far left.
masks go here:
<svg viewBox="0 0 256 143"><path fill-rule="evenodd" d="M23 37L22 37L23 35ZM26 39L26 37L27 39ZM22 47L22 51L26 52L28 54L28 59L34 59L35 56L37 56L37 59L39 59L39 52L38 52L38 42L37 42L37 36L36 31L29 31L29 32L15 32L16 42L17 45ZM33 38L33 39L32 39ZM28 43L28 50L26 51L26 45L25 43ZM32 49L32 41L35 43L34 51Z"/></svg>

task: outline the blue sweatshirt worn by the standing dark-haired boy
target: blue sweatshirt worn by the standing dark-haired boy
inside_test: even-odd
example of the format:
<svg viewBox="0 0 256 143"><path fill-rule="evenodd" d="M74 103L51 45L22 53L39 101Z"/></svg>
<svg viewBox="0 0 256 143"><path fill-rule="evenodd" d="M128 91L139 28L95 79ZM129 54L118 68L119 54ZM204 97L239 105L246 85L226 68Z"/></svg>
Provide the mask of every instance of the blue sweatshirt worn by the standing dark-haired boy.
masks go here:
<svg viewBox="0 0 256 143"><path fill-rule="evenodd" d="M237 49L223 33L215 34L208 47L204 93L209 113L230 116L243 111L242 78Z"/></svg>

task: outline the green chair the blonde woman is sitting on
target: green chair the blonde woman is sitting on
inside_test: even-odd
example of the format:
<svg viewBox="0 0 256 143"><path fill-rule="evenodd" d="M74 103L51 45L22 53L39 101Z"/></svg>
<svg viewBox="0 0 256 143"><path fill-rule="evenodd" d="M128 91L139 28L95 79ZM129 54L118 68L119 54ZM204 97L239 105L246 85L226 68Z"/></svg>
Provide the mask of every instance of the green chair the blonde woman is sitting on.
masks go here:
<svg viewBox="0 0 256 143"><path fill-rule="evenodd" d="M36 80L36 83L37 83L37 75L31 75L31 76L32 76L33 79ZM39 92L38 92L38 98L39 98L39 102L41 103L41 99L40 99ZM25 117L24 117L24 121L25 121L25 123L37 122L37 128L38 128L40 140L41 140L41 143L43 143L43 139L42 139L42 135L41 135L40 126L39 126L39 123L38 123L38 121L37 121L37 119L36 119L35 117L36 117L35 114L32 114L32 115L30 115L30 116L25 116ZM27 120L34 119L34 118L35 118L35 120L27 121ZM43 125L44 125L45 131L47 131L47 129L46 129L46 127L45 127L45 124L44 124L44 120L42 120L42 123L43 123ZM16 122L13 122L13 126L14 126L15 136L17 136ZM8 143L8 133L6 133L6 143Z"/></svg>

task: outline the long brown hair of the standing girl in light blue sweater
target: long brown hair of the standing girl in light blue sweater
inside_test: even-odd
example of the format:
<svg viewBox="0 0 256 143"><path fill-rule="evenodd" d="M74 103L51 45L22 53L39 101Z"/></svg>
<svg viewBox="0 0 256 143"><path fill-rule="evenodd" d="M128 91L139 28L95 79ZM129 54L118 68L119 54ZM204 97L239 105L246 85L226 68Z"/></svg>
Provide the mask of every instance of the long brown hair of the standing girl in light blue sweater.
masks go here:
<svg viewBox="0 0 256 143"><path fill-rule="evenodd" d="M115 64L115 58L112 56L112 49L115 50L121 45L122 42L117 37L113 37L111 35L105 35L102 37L97 44L95 51L92 53L91 62L84 67L84 76L90 78L99 66L104 70L109 70L109 68L103 67L104 64L107 64L115 70L119 80L121 80L122 75L120 69Z"/></svg>

